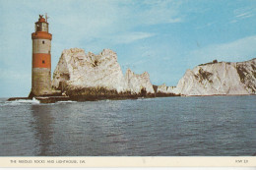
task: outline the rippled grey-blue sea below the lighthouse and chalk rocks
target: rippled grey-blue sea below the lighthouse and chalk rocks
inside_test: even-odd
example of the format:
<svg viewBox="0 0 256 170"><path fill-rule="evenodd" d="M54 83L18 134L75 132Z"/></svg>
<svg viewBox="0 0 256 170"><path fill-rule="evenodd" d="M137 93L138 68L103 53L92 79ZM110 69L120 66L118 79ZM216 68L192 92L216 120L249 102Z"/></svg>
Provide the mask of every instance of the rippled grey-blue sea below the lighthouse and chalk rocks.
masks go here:
<svg viewBox="0 0 256 170"><path fill-rule="evenodd" d="M252 156L256 95L0 98L0 156Z"/></svg>

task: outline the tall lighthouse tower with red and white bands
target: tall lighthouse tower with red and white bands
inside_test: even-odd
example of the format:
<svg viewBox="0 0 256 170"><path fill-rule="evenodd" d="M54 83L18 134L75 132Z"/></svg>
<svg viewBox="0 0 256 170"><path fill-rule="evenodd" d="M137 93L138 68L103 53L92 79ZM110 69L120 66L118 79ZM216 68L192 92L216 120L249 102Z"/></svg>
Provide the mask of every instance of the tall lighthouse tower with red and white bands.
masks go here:
<svg viewBox="0 0 256 170"><path fill-rule="evenodd" d="M32 91L30 96L51 94L51 38L47 16L39 15L32 33Z"/></svg>

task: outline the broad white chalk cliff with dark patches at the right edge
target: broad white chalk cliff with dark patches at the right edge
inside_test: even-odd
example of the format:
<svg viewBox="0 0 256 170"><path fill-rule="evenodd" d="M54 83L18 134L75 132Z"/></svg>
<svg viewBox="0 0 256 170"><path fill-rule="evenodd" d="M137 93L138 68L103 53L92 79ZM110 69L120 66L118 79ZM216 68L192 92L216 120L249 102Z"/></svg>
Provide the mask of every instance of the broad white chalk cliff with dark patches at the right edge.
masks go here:
<svg viewBox="0 0 256 170"><path fill-rule="evenodd" d="M187 70L171 92L181 95L256 94L256 58L199 65Z"/></svg>

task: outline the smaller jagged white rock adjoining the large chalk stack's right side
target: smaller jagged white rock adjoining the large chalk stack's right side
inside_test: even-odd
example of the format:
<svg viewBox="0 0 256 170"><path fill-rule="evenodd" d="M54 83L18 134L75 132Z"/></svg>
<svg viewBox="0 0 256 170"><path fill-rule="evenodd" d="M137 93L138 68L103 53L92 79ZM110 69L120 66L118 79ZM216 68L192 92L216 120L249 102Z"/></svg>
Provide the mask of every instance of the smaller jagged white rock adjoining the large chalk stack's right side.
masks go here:
<svg viewBox="0 0 256 170"><path fill-rule="evenodd" d="M138 94L142 92L142 90L146 90L147 93L155 93L153 85L151 84L150 75L147 72L144 72L142 75L137 75L130 69L127 69L125 81L132 94Z"/></svg>

